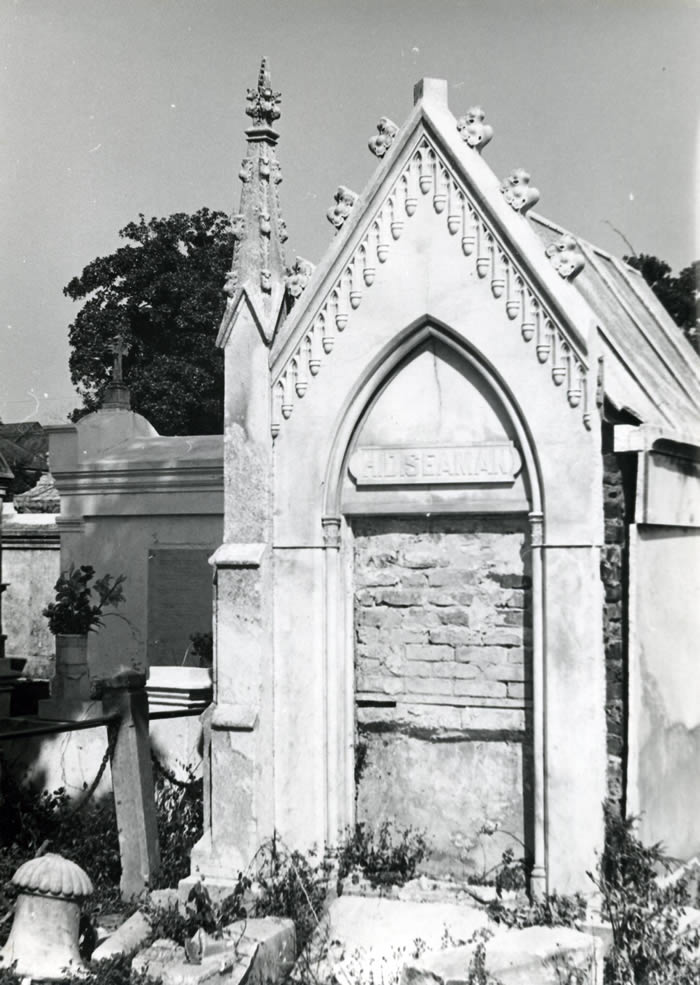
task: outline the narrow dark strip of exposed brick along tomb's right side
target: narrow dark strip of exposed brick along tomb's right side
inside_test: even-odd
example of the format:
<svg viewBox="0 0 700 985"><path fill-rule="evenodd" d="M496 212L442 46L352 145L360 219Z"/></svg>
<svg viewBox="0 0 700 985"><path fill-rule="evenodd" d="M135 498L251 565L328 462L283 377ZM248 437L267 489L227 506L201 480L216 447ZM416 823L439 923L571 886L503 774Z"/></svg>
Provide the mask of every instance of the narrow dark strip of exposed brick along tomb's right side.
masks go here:
<svg viewBox="0 0 700 985"><path fill-rule="evenodd" d="M608 796L620 807L624 797L624 760L627 734L627 526L625 475L621 456L603 454L603 510L605 546L601 578L605 589L603 634L605 645L605 717L608 748Z"/></svg>

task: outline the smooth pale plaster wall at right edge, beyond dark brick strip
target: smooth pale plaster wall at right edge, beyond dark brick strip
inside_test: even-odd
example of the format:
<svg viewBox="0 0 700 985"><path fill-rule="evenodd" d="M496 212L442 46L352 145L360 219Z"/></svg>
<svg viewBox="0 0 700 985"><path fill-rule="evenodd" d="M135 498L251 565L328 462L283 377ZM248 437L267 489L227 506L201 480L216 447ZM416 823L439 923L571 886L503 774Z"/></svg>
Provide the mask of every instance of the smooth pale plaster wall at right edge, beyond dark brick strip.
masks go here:
<svg viewBox="0 0 700 985"><path fill-rule="evenodd" d="M671 856L700 853L700 531L630 528L628 810Z"/></svg>

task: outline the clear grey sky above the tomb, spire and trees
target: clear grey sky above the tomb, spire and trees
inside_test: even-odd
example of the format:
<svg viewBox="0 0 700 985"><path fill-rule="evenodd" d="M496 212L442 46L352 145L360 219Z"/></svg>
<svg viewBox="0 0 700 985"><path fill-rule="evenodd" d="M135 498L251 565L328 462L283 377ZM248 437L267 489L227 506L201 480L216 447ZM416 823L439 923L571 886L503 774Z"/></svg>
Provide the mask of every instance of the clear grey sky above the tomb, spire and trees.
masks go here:
<svg viewBox="0 0 700 985"><path fill-rule="evenodd" d="M339 184L423 76L486 111L484 157L537 210L674 270L700 256L698 0L0 0L0 418L77 404L63 286L137 218L236 211L245 90L282 91L282 206L318 261Z"/></svg>

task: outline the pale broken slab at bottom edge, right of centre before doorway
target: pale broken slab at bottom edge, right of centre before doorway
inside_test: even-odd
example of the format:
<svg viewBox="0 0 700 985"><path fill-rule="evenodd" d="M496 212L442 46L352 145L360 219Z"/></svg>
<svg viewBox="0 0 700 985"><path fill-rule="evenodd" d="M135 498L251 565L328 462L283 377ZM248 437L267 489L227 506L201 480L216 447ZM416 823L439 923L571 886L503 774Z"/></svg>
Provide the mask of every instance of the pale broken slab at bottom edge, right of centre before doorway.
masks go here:
<svg viewBox="0 0 700 985"><path fill-rule="evenodd" d="M424 954L408 962L401 985L468 985L478 943ZM570 927L526 927L485 944L486 971L501 985L560 985L578 972L582 985L602 985L603 944ZM472 971L470 971L470 967Z"/></svg>

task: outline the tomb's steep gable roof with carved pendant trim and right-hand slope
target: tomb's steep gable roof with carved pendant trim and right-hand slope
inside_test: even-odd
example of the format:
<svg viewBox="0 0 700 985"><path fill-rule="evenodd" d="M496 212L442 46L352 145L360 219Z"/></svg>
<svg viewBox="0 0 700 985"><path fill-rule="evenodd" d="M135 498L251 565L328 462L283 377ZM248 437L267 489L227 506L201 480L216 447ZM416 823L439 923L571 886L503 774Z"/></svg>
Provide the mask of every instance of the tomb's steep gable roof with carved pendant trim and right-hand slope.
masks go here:
<svg viewBox="0 0 700 985"><path fill-rule="evenodd" d="M460 135L446 83L427 79L416 90L413 112L393 140L380 125L388 152L273 340L273 434L321 370L336 329L351 323L392 240L432 198L445 214L445 235L461 236L465 256L491 277L494 298L520 321L523 337L536 335L539 361L551 364L556 385L566 381L586 426L586 378L598 371L590 362L600 350L605 394L616 408L700 439L698 357L641 276L581 240L583 270L571 281L560 276L545 250L565 230L508 204L500 180Z"/></svg>

